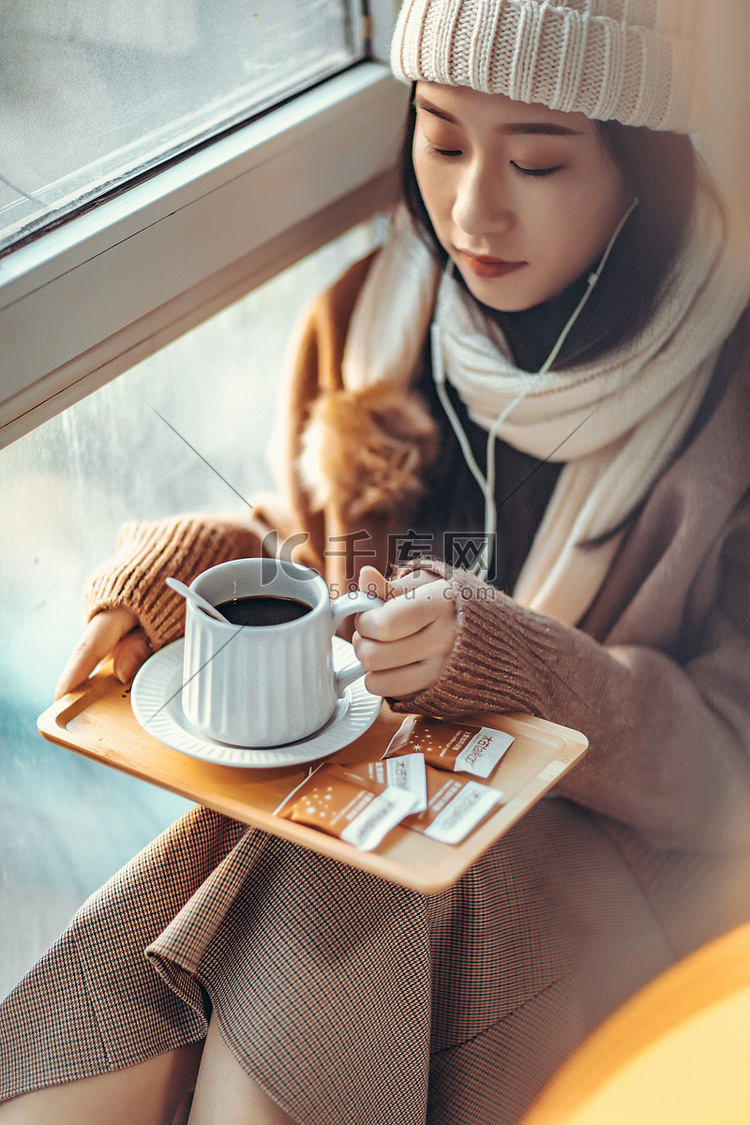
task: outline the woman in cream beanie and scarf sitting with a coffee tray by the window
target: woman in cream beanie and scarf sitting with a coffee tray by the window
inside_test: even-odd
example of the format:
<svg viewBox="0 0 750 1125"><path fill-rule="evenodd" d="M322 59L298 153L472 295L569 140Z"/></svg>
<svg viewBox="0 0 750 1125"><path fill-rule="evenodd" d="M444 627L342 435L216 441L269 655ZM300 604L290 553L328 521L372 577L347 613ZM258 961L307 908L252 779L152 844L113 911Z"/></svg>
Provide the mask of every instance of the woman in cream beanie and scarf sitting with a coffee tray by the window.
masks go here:
<svg viewBox="0 0 750 1125"><path fill-rule="evenodd" d="M126 529L60 691L179 634L166 574L302 530L334 594L390 595L354 646L396 710L528 710L588 755L428 899L193 810L0 1009L2 1125L515 1122L750 912L749 290L676 135L688 9L579 8L407 0L413 223L310 313L284 504ZM383 577L459 540L479 576Z"/></svg>

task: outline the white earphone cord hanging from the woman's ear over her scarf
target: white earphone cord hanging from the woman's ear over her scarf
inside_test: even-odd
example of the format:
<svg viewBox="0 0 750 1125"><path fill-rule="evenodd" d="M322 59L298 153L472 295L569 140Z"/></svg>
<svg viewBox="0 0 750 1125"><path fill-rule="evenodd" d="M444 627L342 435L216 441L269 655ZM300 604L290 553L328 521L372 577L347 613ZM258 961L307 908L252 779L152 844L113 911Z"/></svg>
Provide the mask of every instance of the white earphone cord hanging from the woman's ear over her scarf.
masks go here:
<svg viewBox="0 0 750 1125"><path fill-rule="evenodd" d="M617 237L620 236L620 232L622 231L625 223L638 207L638 202L639 202L638 199L633 200L633 202L630 205L630 207L621 218L620 223L617 224L615 232L609 238L606 250L602 255L599 264L597 266L596 270L593 273L589 273L588 276L588 285L586 287L586 292L578 302L578 305L576 306L573 313L568 320L568 323L563 327L562 332L558 336L558 341L554 344L554 348L552 349L550 354L546 357L544 363L535 375L531 375L528 377L528 380L524 389L519 392L519 394L517 394L516 397L512 399L512 402L508 403L505 410L500 411L500 413L495 418L487 434L487 476L482 474L481 469L477 465L475 456L471 451L471 446L469 444L469 439L463 432L463 428L461 426L461 422L459 421L458 414L453 410L453 405L450 398L448 397L448 392L445 390L445 367L443 363L443 348L440 338L440 326L435 320L433 320L432 322L432 325L430 327L430 342L432 350L432 372L435 382L435 389L437 390L437 397L440 398L442 407L445 411L449 422L451 423L453 433L458 438L459 446L461 447L461 452L463 453L463 459L467 462L467 466L469 467L471 475L479 485L481 493L485 497L485 544L484 544L484 550L480 550L479 554L477 555L477 561L475 564L472 572L473 574L477 575L477 577L481 578L482 582L487 578L487 575L489 574L489 568L491 566L493 542L495 539L495 532L497 530L497 505L495 503L495 442L497 439L498 430L506 421L506 418L513 413L516 406L518 406L518 404L524 400L526 395L532 389L539 389L540 377L543 377L549 372L550 368L558 358L560 349L568 339L570 330L572 328L573 324L582 313L586 302L591 296L594 287L596 282L599 280L599 277L602 276L602 270L607 263L609 254L612 253L612 249L615 242L617 241ZM450 277L452 272L453 272L453 259L449 259L443 277L444 278Z"/></svg>

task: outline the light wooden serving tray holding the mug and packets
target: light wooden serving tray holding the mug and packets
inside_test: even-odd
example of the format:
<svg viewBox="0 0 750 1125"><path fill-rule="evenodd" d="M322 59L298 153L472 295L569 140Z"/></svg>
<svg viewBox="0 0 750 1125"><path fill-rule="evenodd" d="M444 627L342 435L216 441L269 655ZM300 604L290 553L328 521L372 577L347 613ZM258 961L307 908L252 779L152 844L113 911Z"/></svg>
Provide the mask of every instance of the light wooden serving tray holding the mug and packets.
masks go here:
<svg viewBox="0 0 750 1125"><path fill-rule="evenodd" d="M472 724L480 720L482 726L497 727L515 738L488 782L504 791L505 803L461 844L440 844L419 832L395 828L378 848L361 852L315 828L273 814L309 766L249 770L188 757L164 746L138 724L129 694L129 687L114 676L111 665L105 665L83 687L39 716L39 732L76 754L423 894L435 894L460 879L554 786L588 746L584 735L544 719L519 713L475 716ZM383 704L372 727L329 760L380 758L403 719Z"/></svg>

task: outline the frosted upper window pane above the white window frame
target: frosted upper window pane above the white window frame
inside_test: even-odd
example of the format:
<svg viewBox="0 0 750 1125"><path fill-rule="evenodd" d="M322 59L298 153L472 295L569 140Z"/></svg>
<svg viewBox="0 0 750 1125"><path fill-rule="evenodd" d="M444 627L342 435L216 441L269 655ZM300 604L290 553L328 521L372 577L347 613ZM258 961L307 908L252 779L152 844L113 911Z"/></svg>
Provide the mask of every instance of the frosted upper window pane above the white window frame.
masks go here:
<svg viewBox="0 0 750 1125"><path fill-rule="evenodd" d="M361 0L0 6L0 249L362 57Z"/></svg>

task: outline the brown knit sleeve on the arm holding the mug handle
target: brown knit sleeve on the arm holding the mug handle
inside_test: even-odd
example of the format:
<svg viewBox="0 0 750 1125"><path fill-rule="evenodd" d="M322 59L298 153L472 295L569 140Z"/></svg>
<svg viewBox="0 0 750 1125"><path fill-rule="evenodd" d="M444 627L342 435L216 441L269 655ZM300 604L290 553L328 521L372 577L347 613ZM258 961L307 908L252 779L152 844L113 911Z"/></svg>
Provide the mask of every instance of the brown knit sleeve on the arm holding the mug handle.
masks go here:
<svg viewBox="0 0 750 1125"><path fill-rule="evenodd" d="M526 711L581 730L589 749L559 783L560 795L661 847L747 847L748 559L750 542L738 541L702 651L684 666L653 648L599 644L462 572L432 566L452 585L453 650L433 685L391 706L444 719Z"/></svg>

